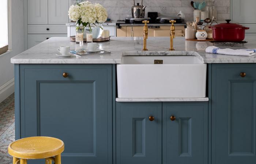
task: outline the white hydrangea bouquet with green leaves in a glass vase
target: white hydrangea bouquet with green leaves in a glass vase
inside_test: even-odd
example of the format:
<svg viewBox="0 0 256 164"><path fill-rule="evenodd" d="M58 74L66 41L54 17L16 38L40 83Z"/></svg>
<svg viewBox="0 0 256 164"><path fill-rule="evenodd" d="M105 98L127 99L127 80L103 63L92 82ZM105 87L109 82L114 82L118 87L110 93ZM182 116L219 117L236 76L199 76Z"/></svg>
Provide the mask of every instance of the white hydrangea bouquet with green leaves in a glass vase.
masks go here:
<svg viewBox="0 0 256 164"><path fill-rule="evenodd" d="M77 30L82 24L83 27L88 25L91 31L90 24L94 24L96 26L95 23L104 23L107 20L108 13L101 4L92 4L89 1L84 1L79 4L72 5L68 10L68 16L69 19L75 21L78 25Z"/></svg>

